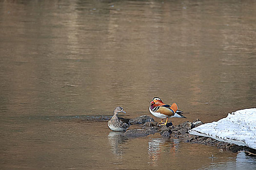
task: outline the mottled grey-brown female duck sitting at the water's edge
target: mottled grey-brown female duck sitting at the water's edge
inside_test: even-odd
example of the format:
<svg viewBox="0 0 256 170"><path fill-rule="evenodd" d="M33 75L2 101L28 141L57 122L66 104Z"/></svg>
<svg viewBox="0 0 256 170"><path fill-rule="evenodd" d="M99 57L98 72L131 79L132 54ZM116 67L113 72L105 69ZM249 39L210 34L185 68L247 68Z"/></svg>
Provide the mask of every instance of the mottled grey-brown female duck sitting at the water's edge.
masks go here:
<svg viewBox="0 0 256 170"><path fill-rule="evenodd" d="M117 107L114 110L114 116L108 121L108 127L112 131L125 131L130 126L130 120L124 118L118 118L118 113L126 113L122 107Z"/></svg>

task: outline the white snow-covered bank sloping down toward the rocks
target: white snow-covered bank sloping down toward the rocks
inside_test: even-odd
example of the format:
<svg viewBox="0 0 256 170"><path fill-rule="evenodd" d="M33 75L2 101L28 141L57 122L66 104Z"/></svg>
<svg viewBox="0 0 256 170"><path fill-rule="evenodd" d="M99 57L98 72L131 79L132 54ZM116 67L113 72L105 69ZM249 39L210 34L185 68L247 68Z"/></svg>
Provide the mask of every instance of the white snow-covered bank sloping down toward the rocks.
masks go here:
<svg viewBox="0 0 256 170"><path fill-rule="evenodd" d="M226 118L202 124L188 132L256 149L256 108L237 110Z"/></svg>

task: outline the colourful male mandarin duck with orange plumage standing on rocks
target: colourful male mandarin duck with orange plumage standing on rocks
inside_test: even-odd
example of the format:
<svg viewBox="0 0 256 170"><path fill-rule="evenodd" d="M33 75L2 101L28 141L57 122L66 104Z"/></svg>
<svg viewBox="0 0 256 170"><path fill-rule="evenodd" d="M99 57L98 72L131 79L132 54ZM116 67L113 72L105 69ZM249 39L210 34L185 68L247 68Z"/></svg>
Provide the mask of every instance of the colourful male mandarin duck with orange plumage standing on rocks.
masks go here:
<svg viewBox="0 0 256 170"><path fill-rule="evenodd" d="M176 103L172 105L164 104L157 97L153 98L152 102L150 102L149 111L155 117L162 119L159 123L162 123L160 125L164 126L167 124L168 118L186 118L182 115L183 112L178 110ZM166 119L166 121L163 122L163 119Z"/></svg>

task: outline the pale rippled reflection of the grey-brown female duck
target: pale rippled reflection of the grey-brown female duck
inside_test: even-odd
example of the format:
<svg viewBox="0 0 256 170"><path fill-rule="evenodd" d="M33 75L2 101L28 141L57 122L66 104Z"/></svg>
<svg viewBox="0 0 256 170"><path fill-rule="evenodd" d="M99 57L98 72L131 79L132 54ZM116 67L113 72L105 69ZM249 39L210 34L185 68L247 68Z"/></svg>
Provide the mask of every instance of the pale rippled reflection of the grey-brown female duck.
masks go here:
<svg viewBox="0 0 256 170"><path fill-rule="evenodd" d="M112 147L112 153L118 157L122 157L122 147L120 146L121 143L125 141L124 132L110 132L108 135L109 144Z"/></svg>

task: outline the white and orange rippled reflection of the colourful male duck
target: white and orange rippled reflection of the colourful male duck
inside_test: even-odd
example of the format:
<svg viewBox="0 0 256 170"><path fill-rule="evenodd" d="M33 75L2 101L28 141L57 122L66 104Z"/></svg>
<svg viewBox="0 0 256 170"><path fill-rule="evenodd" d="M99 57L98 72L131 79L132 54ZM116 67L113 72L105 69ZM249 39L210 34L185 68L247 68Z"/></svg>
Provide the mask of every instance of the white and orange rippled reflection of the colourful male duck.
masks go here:
<svg viewBox="0 0 256 170"><path fill-rule="evenodd" d="M157 165L157 160L162 152L168 152L173 155L177 152L179 146L178 139L153 138L148 142L148 155L150 165Z"/></svg>

